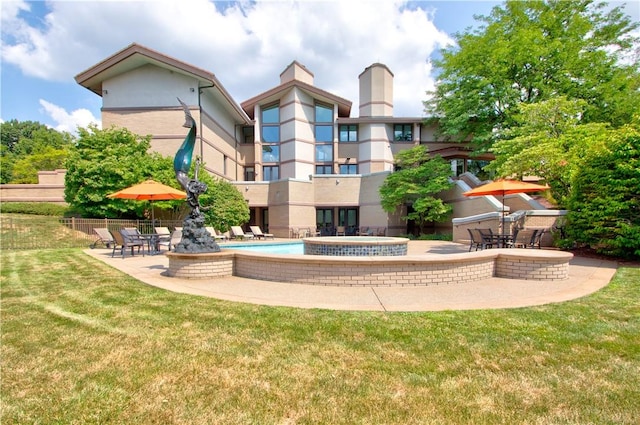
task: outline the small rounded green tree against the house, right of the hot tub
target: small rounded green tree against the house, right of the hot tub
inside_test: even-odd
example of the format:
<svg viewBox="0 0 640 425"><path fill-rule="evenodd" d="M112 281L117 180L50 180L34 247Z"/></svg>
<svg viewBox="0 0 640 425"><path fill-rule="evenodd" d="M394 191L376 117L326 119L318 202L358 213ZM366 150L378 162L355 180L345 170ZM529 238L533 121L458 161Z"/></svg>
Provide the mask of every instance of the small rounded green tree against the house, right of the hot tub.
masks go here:
<svg viewBox="0 0 640 425"><path fill-rule="evenodd" d="M382 208L393 213L409 205L411 211L402 218L419 226L442 221L452 208L434 195L451 187L450 164L439 156L430 157L424 145L399 152L395 162L396 171L380 186Z"/></svg>

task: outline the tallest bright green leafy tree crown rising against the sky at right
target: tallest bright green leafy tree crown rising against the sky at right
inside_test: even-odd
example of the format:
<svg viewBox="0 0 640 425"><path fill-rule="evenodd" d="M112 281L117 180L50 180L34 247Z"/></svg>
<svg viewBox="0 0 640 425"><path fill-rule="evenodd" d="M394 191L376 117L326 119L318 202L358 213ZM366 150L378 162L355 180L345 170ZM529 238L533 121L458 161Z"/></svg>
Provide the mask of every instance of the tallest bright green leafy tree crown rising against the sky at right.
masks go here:
<svg viewBox="0 0 640 425"><path fill-rule="evenodd" d="M577 1L507 1L457 47L434 61L436 90L425 102L441 136L472 141L486 151L517 125L522 104L566 96L584 100L583 123L619 127L640 110L640 71L634 49L640 25L616 7ZM636 56L634 56L634 54Z"/></svg>

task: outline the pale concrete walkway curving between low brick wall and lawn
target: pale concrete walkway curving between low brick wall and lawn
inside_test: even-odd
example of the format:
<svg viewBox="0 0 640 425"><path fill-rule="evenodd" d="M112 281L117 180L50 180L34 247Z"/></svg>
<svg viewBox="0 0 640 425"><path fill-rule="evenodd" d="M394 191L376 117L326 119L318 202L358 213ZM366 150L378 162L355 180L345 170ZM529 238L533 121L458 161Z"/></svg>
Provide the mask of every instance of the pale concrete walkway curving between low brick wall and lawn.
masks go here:
<svg viewBox="0 0 640 425"><path fill-rule="evenodd" d="M437 241L411 241L409 254L466 252L468 245ZM299 285L229 277L181 280L164 274L169 260L164 255L111 258L111 250L85 251L134 278L169 291L227 301L271 306L370 311L439 311L514 308L576 299L606 286L617 264L592 258L574 258L569 279L541 282L491 278L474 284L423 287L332 287Z"/></svg>

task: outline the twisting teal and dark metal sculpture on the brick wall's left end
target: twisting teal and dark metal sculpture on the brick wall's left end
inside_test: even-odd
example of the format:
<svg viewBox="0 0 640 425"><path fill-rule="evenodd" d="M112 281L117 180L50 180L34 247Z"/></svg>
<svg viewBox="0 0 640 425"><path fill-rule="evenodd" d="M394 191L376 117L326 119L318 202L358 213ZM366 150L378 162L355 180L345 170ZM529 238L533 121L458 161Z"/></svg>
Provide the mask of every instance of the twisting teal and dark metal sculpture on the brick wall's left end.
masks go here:
<svg viewBox="0 0 640 425"><path fill-rule="evenodd" d="M182 240L176 245L175 252L180 253L203 253L219 252L220 247L215 239L205 229L204 215L200 211L199 197L207 191L207 185L198 180L200 160L196 159L196 170L193 179L189 178L191 162L193 159L193 149L196 144L196 121L189 112L189 107L178 99L184 109L185 122L183 127L189 129L187 137L180 145L176 156L173 159L173 169L180 186L187 192L187 204L191 212L184 219L182 227Z"/></svg>

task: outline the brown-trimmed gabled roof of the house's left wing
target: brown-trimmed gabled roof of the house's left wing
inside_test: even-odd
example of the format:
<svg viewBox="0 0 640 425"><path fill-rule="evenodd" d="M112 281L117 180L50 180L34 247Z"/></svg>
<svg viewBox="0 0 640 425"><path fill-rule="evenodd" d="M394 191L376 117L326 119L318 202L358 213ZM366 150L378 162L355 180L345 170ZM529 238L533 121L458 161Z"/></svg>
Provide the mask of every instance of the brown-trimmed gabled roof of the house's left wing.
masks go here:
<svg viewBox="0 0 640 425"><path fill-rule="evenodd" d="M91 68L81 72L76 75L75 80L81 86L102 97L103 81L147 64L152 64L160 68L195 78L198 81L198 86L201 90L207 91L214 97L218 98L223 102L223 104L228 106L227 109L237 114L242 121L247 123L251 121L244 110L233 100L213 73L197 68L193 65L189 65L188 63L179 61L137 43L130 44L128 47L109 56L102 62L99 62Z"/></svg>

